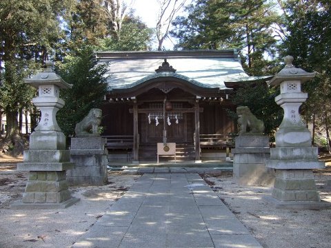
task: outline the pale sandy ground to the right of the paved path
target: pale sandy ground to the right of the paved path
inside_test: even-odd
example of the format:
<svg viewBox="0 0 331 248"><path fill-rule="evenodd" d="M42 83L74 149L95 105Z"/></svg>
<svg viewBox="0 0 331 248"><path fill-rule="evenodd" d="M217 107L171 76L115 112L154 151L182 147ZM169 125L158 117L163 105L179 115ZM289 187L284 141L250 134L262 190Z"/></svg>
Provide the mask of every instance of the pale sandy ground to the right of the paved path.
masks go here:
<svg viewBox="0 0 331 248"><path fill-rule="evenodd" d="M331 173L314 177L321 199L331 203ZM262 200L271 195L270 187L239 187L232 174L205 175L205 180L263 247L331 247L331 209L275 209Z"/></svg>

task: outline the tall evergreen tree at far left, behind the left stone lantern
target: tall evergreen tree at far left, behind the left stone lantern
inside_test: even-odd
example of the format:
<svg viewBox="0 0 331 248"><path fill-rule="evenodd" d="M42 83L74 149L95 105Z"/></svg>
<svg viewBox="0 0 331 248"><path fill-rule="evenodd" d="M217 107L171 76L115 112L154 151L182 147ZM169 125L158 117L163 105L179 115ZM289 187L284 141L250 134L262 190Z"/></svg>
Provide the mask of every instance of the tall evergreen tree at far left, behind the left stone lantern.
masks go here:
<svg viewBox="0 0 331 248"><path fill-rule="evenodd" d="M36 68L30 59L46 60L48 51L59 40L59 20L71 1L0 1L0 94L8 139L19 133L17 115L30 99L30 90L23 84L23 78Z"/></svg>

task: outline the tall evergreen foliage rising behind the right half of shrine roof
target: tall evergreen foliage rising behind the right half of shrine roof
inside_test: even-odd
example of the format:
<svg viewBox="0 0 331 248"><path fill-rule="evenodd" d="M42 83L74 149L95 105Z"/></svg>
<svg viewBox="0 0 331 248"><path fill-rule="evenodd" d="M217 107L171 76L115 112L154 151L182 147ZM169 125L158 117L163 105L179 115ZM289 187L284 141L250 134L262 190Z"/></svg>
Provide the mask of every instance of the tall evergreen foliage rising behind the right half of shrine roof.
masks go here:
<svg viewBox="0 0 331 248"><path fill-rule="evenodd" d="M237 48L248 74L270 73L274 64L265 56L276 55L271 27L279 21L272 1L197 0L186 11L188 17L177 17L170 32L179 39L177 48Z"/></svg>

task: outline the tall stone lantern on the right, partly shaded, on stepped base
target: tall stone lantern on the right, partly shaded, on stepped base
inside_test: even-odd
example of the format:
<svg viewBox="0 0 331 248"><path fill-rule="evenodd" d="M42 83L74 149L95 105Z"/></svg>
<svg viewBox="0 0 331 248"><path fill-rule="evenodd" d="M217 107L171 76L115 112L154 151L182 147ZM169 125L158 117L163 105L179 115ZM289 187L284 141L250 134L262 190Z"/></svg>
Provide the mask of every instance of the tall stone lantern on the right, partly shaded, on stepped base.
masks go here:
<svg viewBox="0 0 331 248"><path fill-rule="evenodd" d="M275 101L284 110L284 117L276 132L276 148L270 149L265 166L276 170L272 197L269 203L283 209L323 209L330 205L320 200L312 169L325 167L318 161L317 147L312 147L310 131L303 123L299 107L308 98L301 85L315 73L308 73L292 65L293 57L285 56L285 68L268 85L280 86Z"/></svg>

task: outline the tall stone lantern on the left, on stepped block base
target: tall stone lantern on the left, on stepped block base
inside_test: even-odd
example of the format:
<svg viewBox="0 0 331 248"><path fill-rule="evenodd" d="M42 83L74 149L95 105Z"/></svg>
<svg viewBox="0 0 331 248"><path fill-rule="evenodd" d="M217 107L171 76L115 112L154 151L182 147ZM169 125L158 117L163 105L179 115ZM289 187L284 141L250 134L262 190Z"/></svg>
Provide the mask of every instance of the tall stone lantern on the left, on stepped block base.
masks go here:
<svg viewBox="0 0 331 248"><path fill-rule="evenodd" d="M24 151L23 163L17 164L18 170L29 174L22 202L12 205L14 208L63 208L79 200L72 198L68 190L66 170L74 168L74 163L70 163L66 136L56 118L64 105L59 91L72 85L53 72L51 61L46 65L46 70L25 79L26 83L38 89L38 96L32 99L32 103L41 111L41 118L35 132L30 135L30 147Z"/></svg>

